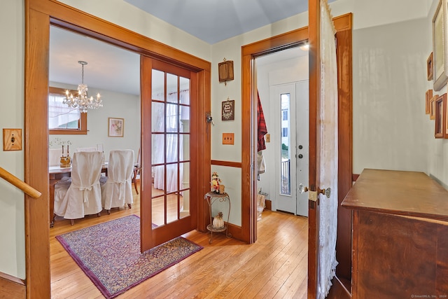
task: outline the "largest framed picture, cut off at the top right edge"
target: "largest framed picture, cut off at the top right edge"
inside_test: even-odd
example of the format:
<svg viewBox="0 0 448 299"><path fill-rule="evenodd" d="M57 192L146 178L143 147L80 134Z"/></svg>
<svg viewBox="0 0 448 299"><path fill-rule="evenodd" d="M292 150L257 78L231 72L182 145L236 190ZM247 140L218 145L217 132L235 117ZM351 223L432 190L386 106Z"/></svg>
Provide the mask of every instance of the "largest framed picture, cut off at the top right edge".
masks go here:
<svg viewBox="0 0 448 299"><path fill-rule="evenodd" d="M443 5L442 5L443 4ZM440 0L433 17L433 89L438 91L447 83L446 74L448 61L444 53L447 50L446 25L447 18L447 0ZM445 28L444 28L445 27Z"/></svg>

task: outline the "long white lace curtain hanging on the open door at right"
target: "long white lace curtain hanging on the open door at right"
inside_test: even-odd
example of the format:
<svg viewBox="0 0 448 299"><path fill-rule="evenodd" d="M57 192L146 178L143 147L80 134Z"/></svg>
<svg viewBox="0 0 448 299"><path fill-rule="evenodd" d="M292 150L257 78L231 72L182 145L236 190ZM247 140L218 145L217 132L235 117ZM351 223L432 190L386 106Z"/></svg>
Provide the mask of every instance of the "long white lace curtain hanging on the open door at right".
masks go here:
<svg viewBox="0 0 448 299"><path fill-rule="evenodd" d="M321 188L331 188L330 198L320 197L318 296L330 291L336 270L337 230L337 62L335 27L327 0L321 0Z"/></svg>

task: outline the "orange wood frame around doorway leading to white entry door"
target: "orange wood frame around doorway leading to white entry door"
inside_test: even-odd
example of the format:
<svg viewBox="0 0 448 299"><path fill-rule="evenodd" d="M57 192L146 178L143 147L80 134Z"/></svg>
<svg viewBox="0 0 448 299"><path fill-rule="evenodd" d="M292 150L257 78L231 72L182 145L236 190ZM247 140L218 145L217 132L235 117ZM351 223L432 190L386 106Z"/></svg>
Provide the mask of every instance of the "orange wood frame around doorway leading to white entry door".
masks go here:
<svg viewBox="0 0 448 299"><path fill-rule="evenodd" d="M337 30L337 48L344 48L344 53L337 53L338 64L341 65L341 69L338 73L338 88L339 88L339 173L338 173L338 188L339 188L339 200L343 200L345 194L351 188L351 171L352 171L352 14L341 15L333 18L335 22L335 28ZM339 33L344 34L339 35ZM241 239L244 242L252 243L256 240L256 219L253 214L250 213L256 207L255 198L251 197L251 139L253 129L253 114L251 109L254 109L253 97L253 60L260 55L274 53L279 50L291 48L297 46L297 44L307 41L308 39L308 27L297 29L286 34L279 36L273 36L272 38L251 43L249 45L241 47L241 101L242 101L242 132L241 132ZM311 94L311 92L310 92ZM256 115L255 115L256 116ZM311 121L311 119L310 119ZM314 131L315 132L315 131ZM342 167L341 167L342 166ZM338 212L342 209L338 209ZM351 248L351 215L343 215L344 218L338 218L337 234L348 236L337 243L337 252L340 252L339 248ZM342 225L346 223L346 225ZM314 232L311 232L314 233ZM342 247L341 247L342 246ZM348 255L349 258L343 260L343 265L339 262L337 270L344 267L351 269L351 250L345 250L343 254ZM312 267L312 266L311 266ZM313 269L311 269L313 270ZM314 270L313 270L314 271ZM349 273L351 275L351 273ZM345 277L351 279L351 276Z"/></svg>

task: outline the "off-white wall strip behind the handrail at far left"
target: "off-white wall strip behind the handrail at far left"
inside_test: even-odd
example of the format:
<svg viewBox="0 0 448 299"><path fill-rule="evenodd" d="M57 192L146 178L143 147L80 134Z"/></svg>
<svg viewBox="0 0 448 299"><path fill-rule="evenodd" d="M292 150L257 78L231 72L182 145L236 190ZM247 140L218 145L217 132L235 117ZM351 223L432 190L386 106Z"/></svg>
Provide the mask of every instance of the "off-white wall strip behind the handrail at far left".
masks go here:
<svg viewBox="0 0 448 299"><path fill-rule="evenodd" d="M20 128L24 123L25 6L6 0L0 10L0 127ZM3 135L2 135L3 136ZM3 138L2 138L3 139ZM0 167L23 180L22 151L0 151ZM25 278L25 215L22 191L0 179L0 271Z"/></svg>

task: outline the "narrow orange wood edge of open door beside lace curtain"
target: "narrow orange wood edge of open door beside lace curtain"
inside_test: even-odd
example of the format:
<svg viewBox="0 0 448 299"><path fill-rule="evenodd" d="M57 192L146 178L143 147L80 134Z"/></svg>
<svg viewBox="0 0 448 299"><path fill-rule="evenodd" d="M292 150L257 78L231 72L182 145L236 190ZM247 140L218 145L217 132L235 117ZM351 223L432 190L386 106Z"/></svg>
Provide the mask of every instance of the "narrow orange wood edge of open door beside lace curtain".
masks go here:
<svg viewBox="0 0 448 299"><path fill-rule="evenodd" d="M321 0L308 1L309 19L309 190L320 186L319 144L321 130L317 123L321 99ZM316 298L318 282L319 204L309 200L308 209L308 298Z"/></svg>

